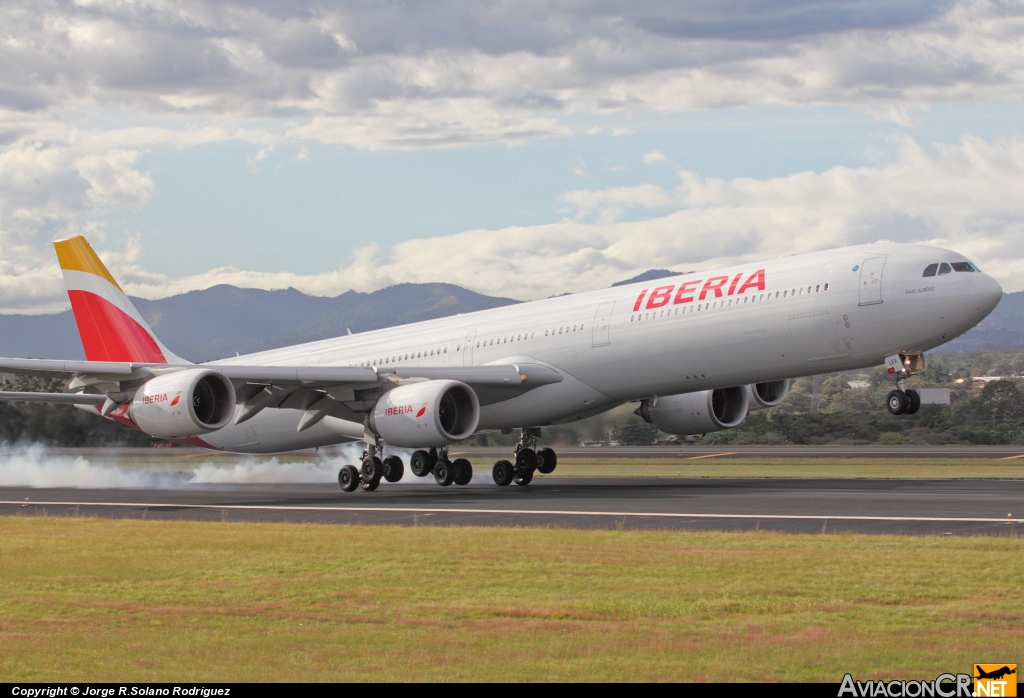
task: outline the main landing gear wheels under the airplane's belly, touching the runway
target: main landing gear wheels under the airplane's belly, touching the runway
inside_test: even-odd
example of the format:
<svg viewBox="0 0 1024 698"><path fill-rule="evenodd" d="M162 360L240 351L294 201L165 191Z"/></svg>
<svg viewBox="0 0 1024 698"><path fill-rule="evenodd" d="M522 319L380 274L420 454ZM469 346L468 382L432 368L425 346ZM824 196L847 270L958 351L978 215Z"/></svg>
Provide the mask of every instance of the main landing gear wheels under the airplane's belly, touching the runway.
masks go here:
<svg viewBox="0 0 1024 698"><path fill-rule="evenodd" d="M545 475L554 472L558 456L551 448L537 448L537 439L541 430L535 427L524 428L515 447L515 460L499 461L490 470L495 483L506 486L515 482L517 485L528 485L534 480L534 473ZM381 459L383 447L368 444L362 453L359 468L343 466L338 472L338 484L342 490L352 492L361 487L372 492L380 486L381 480L398 482L406 474L406 466L397 455ZM421 449L413 453L409 468L417 477L433 475L434 482L441 487L450 485L468 485L473 479L473 466L466 459L449 459L446 446L440 448Z"/></svg>

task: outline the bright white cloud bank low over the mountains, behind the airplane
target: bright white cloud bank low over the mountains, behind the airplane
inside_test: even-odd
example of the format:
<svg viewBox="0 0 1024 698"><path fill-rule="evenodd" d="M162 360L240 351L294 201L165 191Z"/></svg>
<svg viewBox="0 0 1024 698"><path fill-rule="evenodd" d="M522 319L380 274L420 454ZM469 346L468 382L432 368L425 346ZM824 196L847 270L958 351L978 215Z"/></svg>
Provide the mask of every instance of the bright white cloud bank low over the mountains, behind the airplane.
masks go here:
<svg viewBox="0 0 1024 698"><path fill-rule="evenodd" d="M714 268L888 239L954 249L994 274L1006 290L1021 290L1024 140L971 137L923 145L903 138L889 155L887 163L873 167L766 179L681 171L671 190L647 184L570 191L563 197L570 215L560 221L466 230L391 248L368 246L341 268L317 274L217 268L171 278L140 265L137 241L102 256L130 294L150 298L215 283L294 287L335 296L349 289L443 280L537 299L606 288L655 266ZM604 216L608 209L620 216ZM623 220L624 212L648 215ZM455 277L438 275L451 269L459 270ZM36 289L34 298L42 303L51 294L62 295L58 288L52 266L0 274L5 298ZM31 301L26 297L24 303Z"/></svg>

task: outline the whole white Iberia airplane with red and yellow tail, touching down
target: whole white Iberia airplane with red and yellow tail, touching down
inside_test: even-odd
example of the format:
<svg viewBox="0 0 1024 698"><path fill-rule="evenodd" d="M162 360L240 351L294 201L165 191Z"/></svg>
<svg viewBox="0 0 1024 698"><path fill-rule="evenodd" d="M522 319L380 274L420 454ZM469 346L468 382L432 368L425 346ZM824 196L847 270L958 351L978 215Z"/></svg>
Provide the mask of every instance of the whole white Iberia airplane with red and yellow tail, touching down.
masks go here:
<svg viewBox="0 0 1024 698"><path fill-rule="evenodd" d="M159 439L241 453L361 441L344 491L473 474L449 447L519 430L498 485L528 485L557 454L542 428L624 403L670 434L731 429L793 379L884 363L888 408L921 404L924 352L981 321L999 285L963 255L879 243L550 298L205 363L154 334L84 237L54 243L86 360L0 358L0 372L71 379L62 402ZM197 328L216 332L216 328Z"/></svg>

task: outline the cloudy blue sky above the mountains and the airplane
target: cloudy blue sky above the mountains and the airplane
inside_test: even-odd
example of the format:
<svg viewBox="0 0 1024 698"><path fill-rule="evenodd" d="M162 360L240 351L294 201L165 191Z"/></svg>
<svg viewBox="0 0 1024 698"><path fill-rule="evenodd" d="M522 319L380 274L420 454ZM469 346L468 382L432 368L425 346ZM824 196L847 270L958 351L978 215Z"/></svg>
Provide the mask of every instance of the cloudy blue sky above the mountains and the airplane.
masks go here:
<svg viewBox="0 0 1024 698"><path fill-rule="evenodd" d="M895 241L1024 290L1024 2L5 0L0 312L522 300Z"/></svg>

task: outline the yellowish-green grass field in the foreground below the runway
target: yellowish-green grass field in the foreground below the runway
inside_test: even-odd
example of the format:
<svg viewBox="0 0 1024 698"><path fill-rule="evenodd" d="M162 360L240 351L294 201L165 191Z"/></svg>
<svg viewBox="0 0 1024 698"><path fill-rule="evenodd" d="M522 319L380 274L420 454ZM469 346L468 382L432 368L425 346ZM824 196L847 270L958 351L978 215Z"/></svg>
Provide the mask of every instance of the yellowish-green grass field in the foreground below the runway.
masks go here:
<svg viewBox="0 0 1024 698"><path fill-rule="evenodd" d="M0 681L932 679L1024 541L0 518Z"/></svg>

